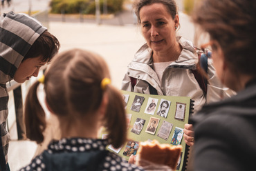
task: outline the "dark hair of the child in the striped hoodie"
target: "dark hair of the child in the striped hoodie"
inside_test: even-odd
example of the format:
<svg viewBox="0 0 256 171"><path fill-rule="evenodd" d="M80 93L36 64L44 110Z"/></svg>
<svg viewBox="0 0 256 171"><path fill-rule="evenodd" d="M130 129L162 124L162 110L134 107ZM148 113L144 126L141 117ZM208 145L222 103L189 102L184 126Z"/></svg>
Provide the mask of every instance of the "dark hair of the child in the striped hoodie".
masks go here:
<svg viewBox="0 0 256 171"><path fill-rule="evenodd" d="M59 49L60 42L58 39L46 30L33 43L22 61L35 57L42 57L42 61L44 62L51 61Z"/></svg>

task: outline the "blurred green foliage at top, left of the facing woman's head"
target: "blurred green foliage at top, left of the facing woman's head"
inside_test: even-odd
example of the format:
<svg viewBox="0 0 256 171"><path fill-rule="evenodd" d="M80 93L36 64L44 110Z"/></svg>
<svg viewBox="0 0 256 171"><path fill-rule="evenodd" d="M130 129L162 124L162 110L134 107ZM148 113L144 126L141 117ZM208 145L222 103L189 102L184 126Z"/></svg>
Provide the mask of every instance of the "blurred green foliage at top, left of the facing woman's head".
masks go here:
<svg viewBox="0 0 256 171"><path fill-rule="evenodd" d="M104 1L100 0L100 12L103 11ZM109 13L116 13L122 10L124 0L107 0ZM51 0L51 12L60 14L95 14L95 0Z"/></svg>

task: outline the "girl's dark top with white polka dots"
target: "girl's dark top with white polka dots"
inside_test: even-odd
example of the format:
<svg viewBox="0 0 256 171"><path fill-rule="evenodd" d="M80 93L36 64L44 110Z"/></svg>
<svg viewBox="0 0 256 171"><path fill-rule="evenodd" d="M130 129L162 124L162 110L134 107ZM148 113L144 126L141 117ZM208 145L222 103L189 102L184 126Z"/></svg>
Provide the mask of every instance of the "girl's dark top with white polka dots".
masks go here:
<svg viewBox="0 0 256 171"><path fill-rule="evenodd" d="M111 170L140 171L136 165L106 150L107 140L71 138L52 141L48 149L35 157L26 170Z"/></svg>

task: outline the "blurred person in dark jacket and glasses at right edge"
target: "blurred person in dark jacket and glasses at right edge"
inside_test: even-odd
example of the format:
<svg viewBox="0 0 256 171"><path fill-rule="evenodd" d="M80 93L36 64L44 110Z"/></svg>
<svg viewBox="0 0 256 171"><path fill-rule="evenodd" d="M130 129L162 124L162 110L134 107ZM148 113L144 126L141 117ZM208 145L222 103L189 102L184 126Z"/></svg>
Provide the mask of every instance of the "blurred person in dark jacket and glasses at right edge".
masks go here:
<svg viewBox="0 0 256 171"><path fill-rule="evenodd" d="M205 0L193 21L210 34L221 83L237 95L193 117L194 170L254 170L256 159L256 1Z"/></svg>

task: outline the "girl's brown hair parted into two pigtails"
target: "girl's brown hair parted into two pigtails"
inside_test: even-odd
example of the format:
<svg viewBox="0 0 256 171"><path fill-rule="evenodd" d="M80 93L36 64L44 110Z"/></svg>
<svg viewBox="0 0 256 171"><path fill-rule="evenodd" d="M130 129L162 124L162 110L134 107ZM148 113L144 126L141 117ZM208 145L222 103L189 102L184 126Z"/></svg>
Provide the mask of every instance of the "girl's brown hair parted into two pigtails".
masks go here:
<svg viewBox="0 0 256 171"><path fill-rule="evenodd" d="M107 93L107 111L104 126L109 143L115 148L125 143L127 123L125 107L119 90L108 84L102 90L102 79L109 78L107 63L98 54L73 49L57 54L46 70L44 90L46 103L58 117L90 119ZM37 99L39 82L31 86L26 99L25 123L28 139L41 143L46 128L45 114ZM62 123L60 123L62 124Z"/></svg>

